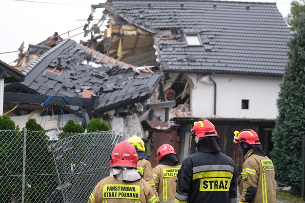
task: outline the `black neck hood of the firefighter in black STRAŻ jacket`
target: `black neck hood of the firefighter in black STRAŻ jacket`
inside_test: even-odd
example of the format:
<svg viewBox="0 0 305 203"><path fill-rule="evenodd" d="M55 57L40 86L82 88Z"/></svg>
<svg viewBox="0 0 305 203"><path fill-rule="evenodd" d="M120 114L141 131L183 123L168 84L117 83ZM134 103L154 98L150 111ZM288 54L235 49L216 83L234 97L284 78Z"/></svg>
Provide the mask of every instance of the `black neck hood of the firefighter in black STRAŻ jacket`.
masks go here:
<svg viewBox="0 0 305 203"><path fill-rule="evenodd" d="M219 152L220 151L220 137L209 136L199 138L196 144L197 150L205 153Z"/></svg>

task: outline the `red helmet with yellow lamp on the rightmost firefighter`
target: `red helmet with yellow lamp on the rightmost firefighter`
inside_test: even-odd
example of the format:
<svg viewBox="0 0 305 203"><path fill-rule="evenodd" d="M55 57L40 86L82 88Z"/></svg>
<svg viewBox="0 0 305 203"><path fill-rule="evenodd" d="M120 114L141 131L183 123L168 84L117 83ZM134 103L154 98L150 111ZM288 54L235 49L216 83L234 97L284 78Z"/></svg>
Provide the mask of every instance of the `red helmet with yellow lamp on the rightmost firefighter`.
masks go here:
<svg viewBox="0 0 305 203"><path fill-rule="evenodd" d="M261 144L259 136L254 130L244 129L241 132L234 132L235 143L247 142L248 144Z"/></svg>

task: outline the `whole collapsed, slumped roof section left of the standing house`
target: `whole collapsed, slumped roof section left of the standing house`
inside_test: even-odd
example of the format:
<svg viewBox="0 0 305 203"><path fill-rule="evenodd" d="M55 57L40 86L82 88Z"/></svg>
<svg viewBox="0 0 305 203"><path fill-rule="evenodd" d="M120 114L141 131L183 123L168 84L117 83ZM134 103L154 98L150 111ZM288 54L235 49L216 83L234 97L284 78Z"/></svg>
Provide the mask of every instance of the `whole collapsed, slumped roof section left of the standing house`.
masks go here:
<svg viewBox="0 0 305 203"><path fill-rule="evenodd" d="M25 80L9 84L5 90L22 88L42 95L90 97L97 95L93 114L148 99L160 73L136 73L135 66L105 56L91 48L65 39L53 48L29 45L29 52L42 54L22 73ZM72 106L79 110L79 106Z"/></svg>

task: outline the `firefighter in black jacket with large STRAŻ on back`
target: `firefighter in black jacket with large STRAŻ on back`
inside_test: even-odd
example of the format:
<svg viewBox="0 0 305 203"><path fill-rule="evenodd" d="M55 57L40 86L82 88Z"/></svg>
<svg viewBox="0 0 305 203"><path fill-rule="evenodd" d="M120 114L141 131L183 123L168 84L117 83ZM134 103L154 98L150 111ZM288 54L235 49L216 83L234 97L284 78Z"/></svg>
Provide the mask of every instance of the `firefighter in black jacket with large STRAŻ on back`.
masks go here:
<svg viewBox="0 0 305 203"><path fill-rule="evenodd" d="M175 203L236 203L235 162L220 152L220 137L207 119L194 122L191 135L197 153L183 160Z"/></svg>

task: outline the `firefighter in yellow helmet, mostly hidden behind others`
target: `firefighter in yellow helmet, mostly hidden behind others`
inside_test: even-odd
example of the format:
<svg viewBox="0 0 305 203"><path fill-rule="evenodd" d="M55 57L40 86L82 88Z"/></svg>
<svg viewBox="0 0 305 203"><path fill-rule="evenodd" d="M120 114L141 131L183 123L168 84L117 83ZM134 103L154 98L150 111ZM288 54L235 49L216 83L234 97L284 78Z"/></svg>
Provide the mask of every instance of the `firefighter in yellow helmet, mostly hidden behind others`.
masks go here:
<svg viewBox="0 0 305 203"><path fill-rule="evenodd" d="M150 184L158 196L152 176L151 163L146 160L148 159L148 156L145 154L145 146L143 140L140 137L134 135L128 139L128 142L135 146L139 155L139 161L137 163L138 171L143 175L143 179Z"/></svg>

